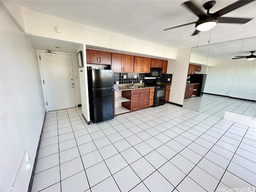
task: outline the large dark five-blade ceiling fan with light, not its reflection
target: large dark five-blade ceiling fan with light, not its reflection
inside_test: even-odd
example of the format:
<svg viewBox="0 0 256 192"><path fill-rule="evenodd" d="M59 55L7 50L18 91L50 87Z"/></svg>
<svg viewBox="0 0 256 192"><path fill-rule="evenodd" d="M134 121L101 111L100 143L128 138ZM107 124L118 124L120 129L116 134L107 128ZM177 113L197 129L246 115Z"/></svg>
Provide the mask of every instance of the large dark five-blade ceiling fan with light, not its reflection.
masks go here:
<svg viewBox="0 0 256 192"><path fill-rule="evenodd" d="M196 6L193 1L187 1L184 2L183 5L185 5L187 8L190 9L196 16L198 16L198 20L195 22L183 24L176 27L171 27L164 29L164 31L169 29L174 29L190 24L196 24L196 30L191 36L194 36L198 34L200 31L207 31L216 26L217 23L234 23L234 24L244 24L248 21L252 20L252 18L234 18L234 17L222 17L222 15L227 14L228 12L231 12L237 8L240 8L254 0L240 0L237 2L234 2L233 4L230 4L229 6L226 6L225 8L222 8L221 10L218 10L215 13L210 13L209 10L215 5L216 1L208 1L206 2L203 7L207 10L207 13L204 13L201 8Z"/></svg>

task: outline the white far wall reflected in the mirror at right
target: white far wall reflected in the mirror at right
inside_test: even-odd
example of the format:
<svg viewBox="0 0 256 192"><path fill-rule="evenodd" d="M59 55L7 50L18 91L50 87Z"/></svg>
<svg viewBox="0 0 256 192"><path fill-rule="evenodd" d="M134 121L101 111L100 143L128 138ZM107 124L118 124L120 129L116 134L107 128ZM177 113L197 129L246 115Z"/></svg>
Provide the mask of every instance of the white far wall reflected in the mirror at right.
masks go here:
<svg viewBox="0 0 256 192"><path fill-rule="evenodd" d="M215 60L209 66L204 92L256 100L256 60Z"/></svg>

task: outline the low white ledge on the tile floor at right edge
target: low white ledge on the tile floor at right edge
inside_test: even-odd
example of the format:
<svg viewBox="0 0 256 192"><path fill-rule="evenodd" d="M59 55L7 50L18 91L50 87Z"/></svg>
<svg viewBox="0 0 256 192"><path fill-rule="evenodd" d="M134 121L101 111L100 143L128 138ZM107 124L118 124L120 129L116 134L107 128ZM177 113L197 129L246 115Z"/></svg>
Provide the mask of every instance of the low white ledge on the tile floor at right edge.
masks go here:
<svg viewBox="0 0 256 192"><path fill-rule="evenodd" d="M226 111L224 120L232 121L241 125L256 128L256 118Z"/></svg>

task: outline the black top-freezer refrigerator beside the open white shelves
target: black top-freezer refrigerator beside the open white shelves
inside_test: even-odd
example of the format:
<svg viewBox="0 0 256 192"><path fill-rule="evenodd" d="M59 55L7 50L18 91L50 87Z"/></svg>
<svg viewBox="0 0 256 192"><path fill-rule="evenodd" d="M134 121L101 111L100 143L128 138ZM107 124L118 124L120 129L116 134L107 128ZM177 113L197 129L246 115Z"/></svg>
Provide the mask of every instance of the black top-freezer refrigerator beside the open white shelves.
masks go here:
<svg viewBox="0 0 256 192"><path fill-rule="evenodd" d="M114 71L88 69L87 74L91 121L114 118Z"/></svg>

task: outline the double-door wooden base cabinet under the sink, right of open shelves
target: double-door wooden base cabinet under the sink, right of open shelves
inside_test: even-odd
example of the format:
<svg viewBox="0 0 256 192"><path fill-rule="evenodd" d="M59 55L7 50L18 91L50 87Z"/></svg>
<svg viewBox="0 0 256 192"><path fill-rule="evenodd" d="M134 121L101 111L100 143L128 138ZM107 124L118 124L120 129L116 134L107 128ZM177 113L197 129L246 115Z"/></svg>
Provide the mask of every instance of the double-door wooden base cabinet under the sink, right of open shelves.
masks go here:
<svg viewBox="0 0 256 192"><path fill-rule="evenodd" d="M131 111L148 107L150 89L131 90Z"/></svg>

